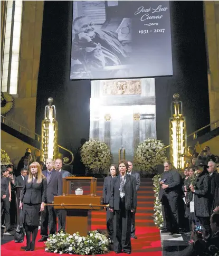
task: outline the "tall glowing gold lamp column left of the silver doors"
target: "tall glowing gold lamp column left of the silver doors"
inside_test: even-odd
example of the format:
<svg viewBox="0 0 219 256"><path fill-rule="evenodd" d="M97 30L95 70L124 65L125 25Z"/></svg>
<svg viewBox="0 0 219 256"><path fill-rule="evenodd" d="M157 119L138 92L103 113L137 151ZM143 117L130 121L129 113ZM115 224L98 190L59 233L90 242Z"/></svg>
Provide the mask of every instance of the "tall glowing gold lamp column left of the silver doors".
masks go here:
<svg viewBox="0 0 219 256"><path fill-rule="evenodd" d="M45 163L47 158L54 159L58 153L58 122L56 121L53 98L48 99L49 105L45 106L44 120L41 127L41 159Z"/></svg>

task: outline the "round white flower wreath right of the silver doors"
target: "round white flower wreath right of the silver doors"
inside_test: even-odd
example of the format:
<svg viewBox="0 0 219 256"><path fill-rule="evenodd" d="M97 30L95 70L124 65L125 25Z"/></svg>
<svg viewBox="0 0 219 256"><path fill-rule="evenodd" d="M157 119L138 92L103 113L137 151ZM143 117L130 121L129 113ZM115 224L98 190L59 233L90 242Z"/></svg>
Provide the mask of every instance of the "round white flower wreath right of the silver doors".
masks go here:
<svg viewBox="0 0 219 256"><path fill-rule="evenodd" d="M151 170L158 164L156 159L157 152L164 147L164 144L159 139L146 139L138 145L134 162L139 165L141 170ZM165 150L160 151L158 156L160 160L165 157L165 153Z"/></svg>

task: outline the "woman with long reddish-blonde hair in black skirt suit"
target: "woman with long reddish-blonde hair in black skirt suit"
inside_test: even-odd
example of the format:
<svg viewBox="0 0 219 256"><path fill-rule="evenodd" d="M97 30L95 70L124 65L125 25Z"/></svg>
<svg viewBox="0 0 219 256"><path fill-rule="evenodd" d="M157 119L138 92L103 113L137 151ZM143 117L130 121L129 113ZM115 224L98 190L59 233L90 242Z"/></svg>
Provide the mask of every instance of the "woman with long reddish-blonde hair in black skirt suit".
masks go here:
<svg viewBox="0 0 219 256"><path fill-rule="evenodd" d="M42 174L40 164L37 162L32 163L29 175L24 179L19 206L23 209L23 222L26 232L25 251L34 251L40 212L44 211L46 186L46 177Z"/></svg>

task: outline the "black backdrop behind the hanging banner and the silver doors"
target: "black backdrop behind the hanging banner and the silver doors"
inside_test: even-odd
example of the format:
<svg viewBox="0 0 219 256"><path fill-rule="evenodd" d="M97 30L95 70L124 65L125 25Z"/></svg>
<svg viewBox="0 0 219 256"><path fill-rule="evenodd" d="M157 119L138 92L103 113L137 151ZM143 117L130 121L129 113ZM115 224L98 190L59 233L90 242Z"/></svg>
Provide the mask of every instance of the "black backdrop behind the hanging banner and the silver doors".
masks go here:
<svg viewBox="0 0 219 256"><path fill-rule="evenodd" d="M156 78L157 138L169 144L170 102L179 93L188 134L209 124L207 64L201 1L170 1L173 76ZM36 131L47 98L53 97L59 122L58 143L71 150L89 137L89 80L70 81L72 2L45 1L36 101ZM147 56L146 56L147 61Z"/></svg>

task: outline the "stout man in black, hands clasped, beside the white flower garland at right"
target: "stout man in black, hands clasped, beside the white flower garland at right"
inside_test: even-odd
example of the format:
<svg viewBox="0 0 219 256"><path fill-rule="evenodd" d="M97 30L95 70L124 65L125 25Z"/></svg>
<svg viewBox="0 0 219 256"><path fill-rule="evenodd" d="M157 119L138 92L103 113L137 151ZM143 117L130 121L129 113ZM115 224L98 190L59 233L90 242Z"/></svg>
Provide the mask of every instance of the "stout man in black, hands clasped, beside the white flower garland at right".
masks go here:
<svg viewBox="0 0 219 256"><path fill-rule="evenodd" d="M162 214L164 217L164 230L171 234L179 232L178 203L181 193L181 177L177 170L173 169L171 162L164 162L164 173L161 176L159 200L162 204Z"/></svg>

